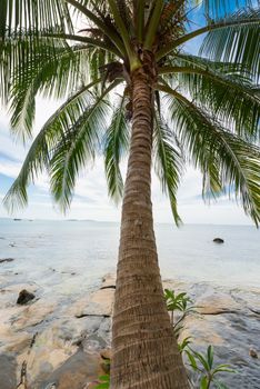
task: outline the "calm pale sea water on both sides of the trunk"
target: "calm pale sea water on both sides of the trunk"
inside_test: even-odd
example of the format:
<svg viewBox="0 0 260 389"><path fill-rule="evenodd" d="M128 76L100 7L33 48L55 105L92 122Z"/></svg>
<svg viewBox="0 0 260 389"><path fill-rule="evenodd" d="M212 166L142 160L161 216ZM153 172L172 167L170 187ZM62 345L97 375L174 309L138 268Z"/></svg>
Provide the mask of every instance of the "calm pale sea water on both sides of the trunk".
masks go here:
<svg viewBox="0 0 260 389"><path fill-rule="evenodd" d="M260 287L260 231L250 226L156 226L163 278ZM224 245L212 239L221 237ZM36 283L44 293L72 296L116 271L119 225L94 221L0 219L0 283Z"/></svg>

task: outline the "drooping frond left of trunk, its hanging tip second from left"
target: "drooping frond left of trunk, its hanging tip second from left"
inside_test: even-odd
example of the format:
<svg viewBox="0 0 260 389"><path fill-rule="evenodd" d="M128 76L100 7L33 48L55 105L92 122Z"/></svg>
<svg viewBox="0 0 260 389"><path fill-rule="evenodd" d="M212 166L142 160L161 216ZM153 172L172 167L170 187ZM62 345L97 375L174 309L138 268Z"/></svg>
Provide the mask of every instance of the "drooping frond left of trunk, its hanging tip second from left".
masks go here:
<svg viewBox="0 0 260 389"><path fill-rule="evenodd" d="M77 177L86 163L94 158L103 138L110 103L106 96L119 84L114 81L92 104L73 121L64 138L56 147L50 160L51 193L62 211L72 200Z"/></svg>

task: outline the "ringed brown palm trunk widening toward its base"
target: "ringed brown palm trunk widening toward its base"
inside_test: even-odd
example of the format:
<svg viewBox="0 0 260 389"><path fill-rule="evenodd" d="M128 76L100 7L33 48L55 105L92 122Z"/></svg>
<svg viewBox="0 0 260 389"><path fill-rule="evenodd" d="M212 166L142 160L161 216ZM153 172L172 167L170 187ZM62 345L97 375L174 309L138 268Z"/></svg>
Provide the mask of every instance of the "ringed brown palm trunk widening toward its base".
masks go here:
<svg viewBox="0 0 260 389"><path fill-rule="evenodd" d="M132 136L112 323L111 389L189 388L163 299L151 205L152 91L132 74Z"/></svg>

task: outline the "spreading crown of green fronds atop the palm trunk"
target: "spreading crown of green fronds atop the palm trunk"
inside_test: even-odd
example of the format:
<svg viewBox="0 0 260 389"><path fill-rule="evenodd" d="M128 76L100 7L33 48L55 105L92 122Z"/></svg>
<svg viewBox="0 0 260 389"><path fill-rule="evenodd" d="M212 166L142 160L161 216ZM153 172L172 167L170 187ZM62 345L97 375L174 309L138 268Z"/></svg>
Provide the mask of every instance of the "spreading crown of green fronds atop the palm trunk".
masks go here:
<svg viewBox="0 0 260 389"><path fill-rule="evenodd" d="M260 11L247 1L233 12L228 1L200 3L206 24L191 29L198 1L1 2L0 96L14 133L32 134L38 93L66 100L34 138L8 206L24 205L28 184L47 169L51 192L66 209L80 169L100 152L109 193L120 198L131 73L149 52L153 161L176 221L188 162L202 171L204 197L234 193L258 225ZM203 33L200 54L187 53L184 43Z"/></svg>

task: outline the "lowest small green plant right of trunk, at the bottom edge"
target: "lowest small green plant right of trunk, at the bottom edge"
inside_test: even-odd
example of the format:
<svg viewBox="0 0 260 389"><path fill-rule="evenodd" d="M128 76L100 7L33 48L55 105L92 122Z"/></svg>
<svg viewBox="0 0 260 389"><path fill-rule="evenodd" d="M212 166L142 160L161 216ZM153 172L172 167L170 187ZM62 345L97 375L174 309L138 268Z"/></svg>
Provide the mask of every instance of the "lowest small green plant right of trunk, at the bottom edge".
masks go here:
<svg viewBox="0 0 260 389"><path fill-rule="evenodd" d="M209 389L211 387L211 383L213 383L218 389L228 389L228 387L219 381L217 377L221 372L234 373L236 370L233 370L230 365L214 366L214 351L212 346L208 347L204 355L192 350L190 347L188 347L184 352L189 359L189 363L192 370L200 375L200 389Z"/></svg>

